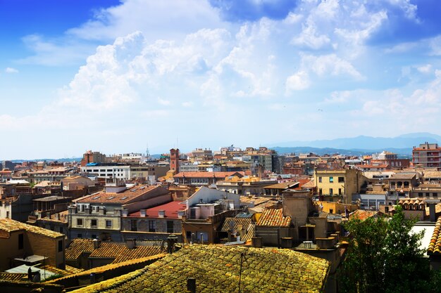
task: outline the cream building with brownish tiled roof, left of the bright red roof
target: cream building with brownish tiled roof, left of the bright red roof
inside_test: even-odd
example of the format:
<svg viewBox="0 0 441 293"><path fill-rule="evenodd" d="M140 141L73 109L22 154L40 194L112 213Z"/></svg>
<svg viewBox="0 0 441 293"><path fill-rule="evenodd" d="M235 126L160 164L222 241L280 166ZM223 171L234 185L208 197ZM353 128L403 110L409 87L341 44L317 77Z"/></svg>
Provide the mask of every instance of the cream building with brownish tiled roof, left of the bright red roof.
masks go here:
<svg viewBox="0 0 441 293"><path fill-rule="evenodd" d="M168 190L160 186L107 185L104 192L82 197L68 208L70 235L121 241L121 216L170 200Z"/></svg>

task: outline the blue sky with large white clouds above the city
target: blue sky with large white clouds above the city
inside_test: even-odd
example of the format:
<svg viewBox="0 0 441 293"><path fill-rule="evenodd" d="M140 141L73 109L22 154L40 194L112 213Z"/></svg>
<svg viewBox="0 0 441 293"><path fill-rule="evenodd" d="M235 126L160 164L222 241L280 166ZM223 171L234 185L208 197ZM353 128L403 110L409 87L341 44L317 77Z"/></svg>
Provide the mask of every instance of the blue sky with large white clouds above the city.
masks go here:
<svg viewBox="0 0 441 293"><path fill-rule="evenodd" d="M0 159L439 135L440 14L436 0L0 0Z"/></svg>

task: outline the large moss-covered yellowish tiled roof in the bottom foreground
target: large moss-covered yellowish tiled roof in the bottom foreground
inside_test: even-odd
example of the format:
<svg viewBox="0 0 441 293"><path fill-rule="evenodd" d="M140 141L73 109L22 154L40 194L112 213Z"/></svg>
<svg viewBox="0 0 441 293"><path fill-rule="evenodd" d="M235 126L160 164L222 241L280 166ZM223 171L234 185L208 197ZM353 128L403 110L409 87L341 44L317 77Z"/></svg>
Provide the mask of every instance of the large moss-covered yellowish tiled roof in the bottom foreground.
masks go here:
<svg viewBox="0 0 441 293"><path fill-rule="evenodd" d="M244 255L241 270L241 255ZM190 245L151 265L75 292L322 292L329 262L289 249Z"/></svg>

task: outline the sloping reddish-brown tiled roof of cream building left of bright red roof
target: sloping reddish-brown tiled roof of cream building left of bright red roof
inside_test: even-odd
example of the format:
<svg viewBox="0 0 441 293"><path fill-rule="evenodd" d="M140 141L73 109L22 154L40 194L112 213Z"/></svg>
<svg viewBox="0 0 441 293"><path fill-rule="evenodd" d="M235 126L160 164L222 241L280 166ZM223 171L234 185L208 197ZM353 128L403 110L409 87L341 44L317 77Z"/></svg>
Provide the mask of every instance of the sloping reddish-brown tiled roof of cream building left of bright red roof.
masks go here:
<svg viewBox="0 0 441 293"><path fill-rule="evenodd" d="M156 188L161 188L158 185L135 185L132 188L128 188L124 192L121 193L106 193L105 191L101 193L94 193L93 195L89 195L87 197L83 197L81 200L77 200L78 203L120 203L125 204L135 199L135 197L144 195L151 190Z"/></svg>

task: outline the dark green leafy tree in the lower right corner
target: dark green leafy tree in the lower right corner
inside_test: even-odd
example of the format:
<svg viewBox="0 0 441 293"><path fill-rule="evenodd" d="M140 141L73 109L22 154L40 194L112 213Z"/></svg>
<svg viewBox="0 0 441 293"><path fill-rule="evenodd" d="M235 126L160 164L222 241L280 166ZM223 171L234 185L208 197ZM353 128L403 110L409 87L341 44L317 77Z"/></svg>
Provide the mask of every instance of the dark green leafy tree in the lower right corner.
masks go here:
<svg viewBox="0 0 441 293"><path fill-rule="evenodd" d="M428 259L411 233L415 220L404 219L397 207L392 219L351 219L344 226L352 235L342 266L342 291L357 293L430 292Z"/></svg>

